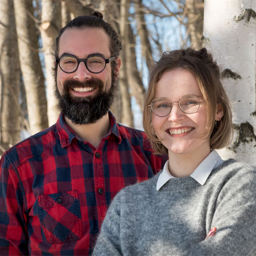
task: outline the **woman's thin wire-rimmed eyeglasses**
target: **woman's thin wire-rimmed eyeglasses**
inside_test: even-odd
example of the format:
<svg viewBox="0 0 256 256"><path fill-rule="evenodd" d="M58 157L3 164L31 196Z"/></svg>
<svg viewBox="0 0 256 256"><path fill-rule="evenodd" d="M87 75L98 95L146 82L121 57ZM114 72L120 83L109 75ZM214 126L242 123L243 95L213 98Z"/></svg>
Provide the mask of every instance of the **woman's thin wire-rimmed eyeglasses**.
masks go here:
<svg viewBox="0 0 256 256"><path fill-rule="evenodd" d="M198 99L194 95L186 95L179 99L179 101L170 102L167 99L153 99L151 103L147 106L151 107L153 113L157 116L168 116L173 108L173 103L178 103L182 112L186 114L196 113L199 109L200 102L204 101L203 99Z"/></svg>

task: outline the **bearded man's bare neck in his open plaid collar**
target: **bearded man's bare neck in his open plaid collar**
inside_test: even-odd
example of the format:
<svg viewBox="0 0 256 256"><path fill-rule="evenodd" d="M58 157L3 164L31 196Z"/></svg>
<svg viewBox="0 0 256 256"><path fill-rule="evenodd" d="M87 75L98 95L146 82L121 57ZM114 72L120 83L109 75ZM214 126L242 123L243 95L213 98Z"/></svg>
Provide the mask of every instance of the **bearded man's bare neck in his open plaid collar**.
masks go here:
<svg viewBox="0 0 256 256"><path fill-rule="evenodd" d="M98 147L101 139L108 133L110 127L108 113L100 118L96 123L74 124L66 116L65 120L79 138L91 143L95 148Z"/></svg>

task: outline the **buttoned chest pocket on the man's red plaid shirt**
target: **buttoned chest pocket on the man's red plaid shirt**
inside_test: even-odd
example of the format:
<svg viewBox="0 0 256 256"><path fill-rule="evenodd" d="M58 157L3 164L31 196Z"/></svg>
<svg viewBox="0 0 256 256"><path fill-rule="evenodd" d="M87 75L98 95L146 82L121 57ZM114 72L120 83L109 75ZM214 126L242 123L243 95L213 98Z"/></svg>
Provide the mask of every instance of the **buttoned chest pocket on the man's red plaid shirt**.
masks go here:
<svg viewBox="0 0 256 256"><path fill-rule="evenodd" d="M45 237L51 243L67 243L81 238L82 220L77 190L37 197L39 217Z"/></svg>

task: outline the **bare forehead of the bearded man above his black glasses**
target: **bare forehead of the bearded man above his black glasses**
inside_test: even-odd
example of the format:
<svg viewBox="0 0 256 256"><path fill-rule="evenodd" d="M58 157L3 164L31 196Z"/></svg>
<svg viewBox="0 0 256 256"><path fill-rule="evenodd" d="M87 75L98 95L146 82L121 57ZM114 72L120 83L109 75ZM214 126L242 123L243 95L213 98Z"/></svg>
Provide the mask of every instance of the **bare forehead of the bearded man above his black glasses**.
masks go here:
<svg viewBox="0 0 256 256"><path fill-rule="evenodd" d="M110 53L110 38L102 28L68 28L59 39L59 53L82 51L81 54L98 52Z"/></svg>

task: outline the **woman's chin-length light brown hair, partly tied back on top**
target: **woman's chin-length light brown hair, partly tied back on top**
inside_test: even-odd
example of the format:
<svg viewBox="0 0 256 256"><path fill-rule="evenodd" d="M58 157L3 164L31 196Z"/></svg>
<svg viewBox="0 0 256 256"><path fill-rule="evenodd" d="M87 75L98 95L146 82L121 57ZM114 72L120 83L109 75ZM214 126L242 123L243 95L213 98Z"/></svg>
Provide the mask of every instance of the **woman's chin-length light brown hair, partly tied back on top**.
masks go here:
<svg viewBox="0 0 256 256"><path fill-rule="evenodd" d="M223 148L233 136L230 103L220 80L220 69L212 55L205 48L196 51L192 48L164 52L150 72L150 80L145 98L143 127L157 154L167 153L167 148L156 137L152 126L152 111L148 104L155 97L156 85L163 72L183 68L196 77L206 104L206 136L210 135L210 148ZM223 117L219 128L215 125L217 104L223 108Z"/></svg>

